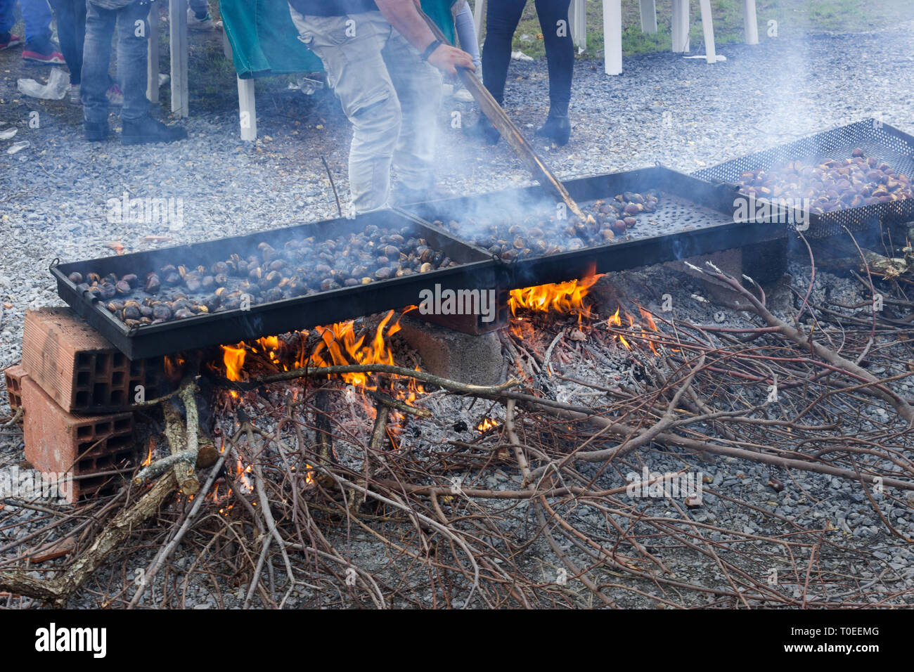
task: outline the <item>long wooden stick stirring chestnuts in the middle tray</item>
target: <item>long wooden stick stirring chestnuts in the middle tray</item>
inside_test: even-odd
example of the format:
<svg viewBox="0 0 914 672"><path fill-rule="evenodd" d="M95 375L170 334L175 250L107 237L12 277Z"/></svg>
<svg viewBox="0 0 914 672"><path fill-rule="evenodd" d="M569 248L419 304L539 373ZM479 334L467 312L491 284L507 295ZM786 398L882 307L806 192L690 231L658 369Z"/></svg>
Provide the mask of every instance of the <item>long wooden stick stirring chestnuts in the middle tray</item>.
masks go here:
<svg viewBox="0 0 914 672"><path fill-rule="evenodd" d="M418 6L416 7L416 10L420 13L422 18L425 19L425 23L429 25L435 38L443 44L450 45L450 40L448 40L447 37L444 37L441 28L435 26L435 22ZM515 154L526 163L526 166L533 174L534 179L553 196L560 198L562 202L565 203L565 206L571 210L571 213L582 222L587 221L589 223L595 223L592 216L584 216L584 213L581 212L581 209L574 198L571 197L568 189L565 188L565 185L558 181L558 178L549 170L549 166L546 165L546 162L537 155L533 146L520 134L515 123L511 121L511 118L505 113L502 106L498 104L498 101L495 101L492 94L489 93L489 90L483 86L483 82L480 81L473 72L466 68L457 68L457 76L460 77L466 90L470 91L473 95L473 100L479 105L479 109L488 117L489 121L492 122L492 125L498 129L498 132L502 134L507 144L511 145Z"/></svg>

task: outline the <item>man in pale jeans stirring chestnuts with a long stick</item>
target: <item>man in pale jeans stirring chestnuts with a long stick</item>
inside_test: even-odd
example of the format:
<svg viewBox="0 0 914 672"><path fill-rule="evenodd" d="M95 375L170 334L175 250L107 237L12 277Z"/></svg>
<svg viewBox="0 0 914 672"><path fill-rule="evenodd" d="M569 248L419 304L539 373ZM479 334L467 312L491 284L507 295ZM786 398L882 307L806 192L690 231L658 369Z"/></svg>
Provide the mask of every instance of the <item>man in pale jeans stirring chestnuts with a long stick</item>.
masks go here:
<svg viewBox="0 0 914 672"><path fill-rule="evenodd" d="M289 0L299 38L323 62L353 124L349 189L356 214L386 208L390 167L399 200L430 196L441 74L473 59L441 44L415 0ZM437 70L436 70L437 69Z"/></svg>

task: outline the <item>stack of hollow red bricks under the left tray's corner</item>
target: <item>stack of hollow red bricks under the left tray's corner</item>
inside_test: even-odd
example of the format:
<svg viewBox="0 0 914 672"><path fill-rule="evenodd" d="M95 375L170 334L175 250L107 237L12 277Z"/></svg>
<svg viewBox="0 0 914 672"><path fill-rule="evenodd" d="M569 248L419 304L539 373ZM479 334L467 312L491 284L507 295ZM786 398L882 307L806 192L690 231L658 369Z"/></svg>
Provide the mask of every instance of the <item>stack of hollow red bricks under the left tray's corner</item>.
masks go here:
<svg viewBox="0 0 914 672"><path fill-rule="evenodd" d="M28 311L22 363L5 370L10 406L23 409L26 460L44 473L72 474L72 503L122 485L135 457L133 403L152 399L158 368L131 361L69 308ZM15 409L14 409L15 411Z"/></svg>

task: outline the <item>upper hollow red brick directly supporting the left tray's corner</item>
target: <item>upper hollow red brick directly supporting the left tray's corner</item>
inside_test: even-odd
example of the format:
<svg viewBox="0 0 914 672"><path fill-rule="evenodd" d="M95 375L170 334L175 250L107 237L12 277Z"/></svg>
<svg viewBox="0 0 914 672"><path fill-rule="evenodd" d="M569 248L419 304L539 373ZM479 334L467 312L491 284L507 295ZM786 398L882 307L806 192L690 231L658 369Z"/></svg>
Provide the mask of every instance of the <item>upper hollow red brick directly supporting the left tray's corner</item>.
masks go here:
<svg viewBox="0 0 914 672"><path fill-rule="evenodd" d="M146 399L158 389L154 362L131 361L69 308L26 312L22 367L66 411L118 411L137 385Z"/></svg>

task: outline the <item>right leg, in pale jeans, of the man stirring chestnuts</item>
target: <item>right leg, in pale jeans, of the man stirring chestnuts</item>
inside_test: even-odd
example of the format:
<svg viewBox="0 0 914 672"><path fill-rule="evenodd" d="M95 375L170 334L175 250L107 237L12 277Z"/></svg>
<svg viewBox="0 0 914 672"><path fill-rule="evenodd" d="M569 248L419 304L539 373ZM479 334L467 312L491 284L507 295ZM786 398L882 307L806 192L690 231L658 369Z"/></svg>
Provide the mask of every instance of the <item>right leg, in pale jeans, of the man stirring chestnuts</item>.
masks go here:
<svg viewBox="0 0 914 672"><path fill-rule="evenodd" d="M412 191L434 185L435 116L441 107L441 74L397 32L382 53L403 111L393 164L400 181Z"/></svg>

